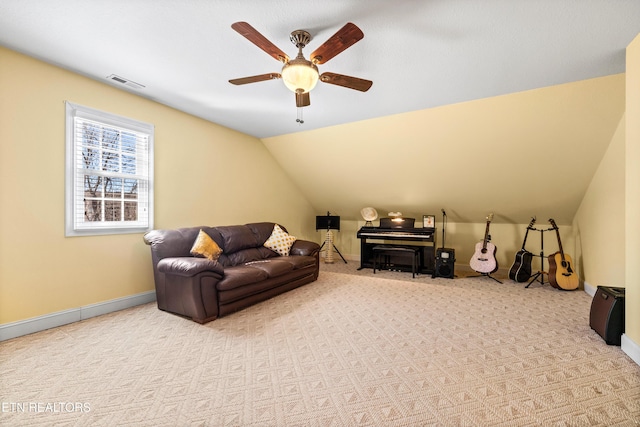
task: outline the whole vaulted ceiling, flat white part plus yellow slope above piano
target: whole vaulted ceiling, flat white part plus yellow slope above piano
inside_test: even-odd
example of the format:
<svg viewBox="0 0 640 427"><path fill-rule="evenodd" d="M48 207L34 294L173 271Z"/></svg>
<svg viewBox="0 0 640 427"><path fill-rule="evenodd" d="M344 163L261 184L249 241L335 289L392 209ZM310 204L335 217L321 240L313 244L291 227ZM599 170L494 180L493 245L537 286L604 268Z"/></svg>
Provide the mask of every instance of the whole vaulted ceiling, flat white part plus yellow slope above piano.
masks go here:
<svg viewBox="0 0 640 427"><path fill-rule="evenodd" d="M235 32L237 21L290 57L291 31L311 33L309 55L353 22L364 38L318 67L373 86L319 83L304 124L296 123L294 95L281 80L228 82L282 66ZM625 71L625 47L638 33L637 0L0 2L0 44L261 138L314 206L347 217L368 205L416 215L449 207L454 220L495 210L504 222L527 223L532 207L546 216L562 205L558 222L570 222L623 111L621 81L597 78ZM510 114L527 96L550 93L544 88L589 79L598 83L579 93L554 90ZM499 98L517 93L515 104L511 95ZM492 97L498 101L484 103ZM443 116L449 106L459 110ZM495 114L478 114L486 108ZM346 136L336 138L336 129ZM471 132L477 137L469 141ZM331 156L340 150L346 155ZM447 187L454 172L458 184ZM544 191L558 174L562 190ZM527 192L514 187L521 177ZM375 187L376 178L395 182ZM397 182L424 187L398 192ZM434 182L445 185L435 191Z"/></svg>

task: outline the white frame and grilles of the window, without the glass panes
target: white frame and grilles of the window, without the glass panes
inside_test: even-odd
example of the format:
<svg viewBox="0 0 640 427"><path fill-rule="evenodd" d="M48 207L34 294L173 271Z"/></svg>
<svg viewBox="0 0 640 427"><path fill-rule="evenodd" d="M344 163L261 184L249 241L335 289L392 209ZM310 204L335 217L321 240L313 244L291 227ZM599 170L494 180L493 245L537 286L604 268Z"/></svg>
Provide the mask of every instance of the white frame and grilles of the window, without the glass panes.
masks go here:
<svg viewBox="0 0 640 427"><path fill-rule="evenodd" d="M104 234L126 234L142 233L153 229L153 145L154 126L149 123L140 122L127 117L118 116L82 105L65 102L66 109L66 173L65 173L65 235L66 236L92 236ZM105 145L93 145L91 149L95 153L100 152L101 156L111 150L116 153L115 158L119 159L119 167L114 167L114 171L107 171L104 167L99 169L87 169L87 165L82 160L82 149L87 145L83 143L81 126L83 123L90 123L92 126L106 128L108 131L116 130L118 134L126 132L127 135L134 134L135 153L123 152L125 144L120 142L114 146L118 148L113 151L111 148L104 148ZM120 138L118 138L120 141ZM103 141L103 139L101 139ZM95 149L95 150L94 150ZM118 151L120 153L118 154ZM134 162L135 167L129 166L130 170L124 167L124 158L129 162ZM135 160L134 160L135 158ZM101 157L102 159L102 157ZM103 164L101 160L100 165ZM129 163L130 165L131 163ZM85 212L85 175L87 172L92 177L97 177L98 182L106 181L102 178L109 178L112 181L120 182L121 195L114 197L115 192L108 193L106 190L101 196L94 200L99 201L97 205L101 207L102 214L98 220L87 220ZM132 200L125 195L125 182L135 181L136 199ZM116 186L116 188L118 188ZM111 195L111 196L110 196ZM92 198L93 199L93 198ZM120 219L117 221L106 220L108 215L104 214L107 204L120 207L121 216L125 215L125 206L136 203L135 209L137 220Z"/></svg>

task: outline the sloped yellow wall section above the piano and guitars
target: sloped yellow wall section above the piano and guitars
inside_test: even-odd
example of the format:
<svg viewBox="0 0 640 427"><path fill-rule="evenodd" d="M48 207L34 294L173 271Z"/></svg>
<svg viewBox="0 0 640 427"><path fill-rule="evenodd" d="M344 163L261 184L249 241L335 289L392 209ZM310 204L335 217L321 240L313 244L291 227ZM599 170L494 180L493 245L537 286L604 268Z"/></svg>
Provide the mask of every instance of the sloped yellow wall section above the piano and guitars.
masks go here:
<svg viewBox="0 0 640 427"><path fill-rule="evenodd" d="M263 142L319 213L343 220L365 206L418 220L444 208L451 222L494 212L497 224L536 215L570 227L624 114L624 85L616 74Z"/></svg>

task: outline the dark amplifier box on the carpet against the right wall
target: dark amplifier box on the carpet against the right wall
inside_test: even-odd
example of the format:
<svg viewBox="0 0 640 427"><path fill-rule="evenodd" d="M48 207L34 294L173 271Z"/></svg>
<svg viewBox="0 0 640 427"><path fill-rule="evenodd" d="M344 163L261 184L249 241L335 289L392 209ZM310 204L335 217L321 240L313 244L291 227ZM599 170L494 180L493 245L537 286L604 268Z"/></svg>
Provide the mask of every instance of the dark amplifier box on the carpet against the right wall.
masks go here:
<svg viewBox="0 0 640 427"><path fill-rule="evenodd" d="M591 301L589 326L609 345L620 345L624 333L624 288L598 286Z"/></svg>

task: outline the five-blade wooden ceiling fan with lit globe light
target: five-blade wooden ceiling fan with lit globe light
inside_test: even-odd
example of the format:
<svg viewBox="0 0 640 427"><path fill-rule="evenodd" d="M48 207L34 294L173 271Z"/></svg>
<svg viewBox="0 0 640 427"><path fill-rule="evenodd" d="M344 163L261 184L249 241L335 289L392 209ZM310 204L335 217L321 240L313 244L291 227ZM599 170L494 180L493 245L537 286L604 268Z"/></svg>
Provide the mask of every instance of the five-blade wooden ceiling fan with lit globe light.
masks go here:
<svg viewBox="0 0 640 427"><path fill-rule="evenodd" d="M246 22L236 22L231 25L241 36L265 51L269 56L284 63L280 73L267 73L257 76L242 77L229 80L234 85L244 85L271 79L282 79L284 84L295 93L296 106L306 107L311 104L309 92L316 86L318 80L349 89L366 92L373 82L358 77L324 72L319 74L316 64L324 64L334 56L362 40L364 34L360 28L351 22L338 30L333 36L317 48L310 56L310 60L302 55L302 49L311 41L311 34L305 30L295 30L289 39L298 48L298 56L289 59L286 53L271 43L255 28ZM300 121L300 120L299 120Z"/></svg>

